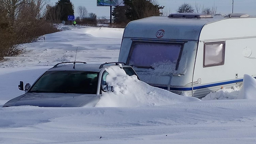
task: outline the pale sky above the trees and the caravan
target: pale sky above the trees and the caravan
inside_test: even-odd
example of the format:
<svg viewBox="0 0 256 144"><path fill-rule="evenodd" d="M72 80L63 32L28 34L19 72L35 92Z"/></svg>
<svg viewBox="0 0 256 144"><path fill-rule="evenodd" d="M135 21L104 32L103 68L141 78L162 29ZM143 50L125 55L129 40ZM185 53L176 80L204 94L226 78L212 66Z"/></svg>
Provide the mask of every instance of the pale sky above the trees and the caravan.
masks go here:
<svg viewBox="0 0 256 144"><path fill-rule="evenodd" d="M52 3L55 3L57 0L51 0ZM232 13L232 0L156 0L158 4L164 5L164 12L166 13L176 13L179 5L183 3L191 4L194 9L196 3L201 5L201 7L210 7L215 4L217 6L217 13L228 14ZM107 16L109 17L110 8L109 7L97 7L97 0L71 0L75 6L75 15L76 7L79 5L85 6L88 12L96 13L98 17ZM247 13L249 15L256 16L256 0L234 0L234 13Z"/></svg>

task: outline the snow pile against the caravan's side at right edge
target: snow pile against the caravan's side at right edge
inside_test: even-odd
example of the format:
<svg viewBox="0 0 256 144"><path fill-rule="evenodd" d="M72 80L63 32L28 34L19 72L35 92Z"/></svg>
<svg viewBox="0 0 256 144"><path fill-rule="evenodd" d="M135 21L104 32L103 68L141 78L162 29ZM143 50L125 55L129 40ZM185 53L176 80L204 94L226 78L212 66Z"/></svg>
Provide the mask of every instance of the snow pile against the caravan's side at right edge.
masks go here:
<svg viewBox="0 0 256 144"><path fill-rule="evenodd" d="M212 92L202 98L202 101L208 100L233 100L233 99L256 99L256 79L252 76L245 74L243 80L243 87L233 86L230 89L220 89Z"/></svg>

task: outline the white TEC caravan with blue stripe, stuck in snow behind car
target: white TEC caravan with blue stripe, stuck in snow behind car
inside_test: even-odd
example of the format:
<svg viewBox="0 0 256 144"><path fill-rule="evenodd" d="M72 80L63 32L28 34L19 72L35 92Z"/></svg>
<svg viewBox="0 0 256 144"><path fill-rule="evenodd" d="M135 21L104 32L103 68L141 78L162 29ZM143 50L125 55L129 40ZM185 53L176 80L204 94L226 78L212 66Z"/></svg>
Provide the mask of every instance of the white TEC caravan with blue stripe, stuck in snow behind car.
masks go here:
<svg viewBox="0 0 256 144"><path fill-rule="evenodd" d="M181 13L130 22L119 62L140 79L176 94L204 97L256 77L256 18Z"/></svg>

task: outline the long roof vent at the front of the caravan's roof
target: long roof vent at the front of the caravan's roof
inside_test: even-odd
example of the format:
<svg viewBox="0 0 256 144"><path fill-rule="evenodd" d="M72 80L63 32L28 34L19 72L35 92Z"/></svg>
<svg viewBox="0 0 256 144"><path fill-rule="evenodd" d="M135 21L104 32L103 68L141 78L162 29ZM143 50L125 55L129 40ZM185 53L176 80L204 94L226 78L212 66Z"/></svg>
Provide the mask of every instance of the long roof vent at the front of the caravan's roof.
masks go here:
<svg viewBox="0 0 256 144"><path fill-rule="evenodd" d="M196 18L196 19L202 19L202 18L213 18L210 14L202 14L202 13L174 13L170 14L168 18Z"/></svg>

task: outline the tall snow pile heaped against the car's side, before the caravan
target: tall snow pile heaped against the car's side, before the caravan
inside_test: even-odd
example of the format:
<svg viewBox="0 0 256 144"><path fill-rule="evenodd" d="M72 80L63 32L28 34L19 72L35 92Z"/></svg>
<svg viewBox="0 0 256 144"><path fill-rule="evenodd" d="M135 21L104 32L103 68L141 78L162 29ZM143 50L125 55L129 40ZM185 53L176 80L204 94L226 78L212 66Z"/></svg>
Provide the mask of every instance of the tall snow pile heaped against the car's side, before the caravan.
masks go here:
<svg viewBox="0 0 256 144"><path fill-rule="evenodd" d="M143 107L201 101L149 86L135 75L126 75L118 66L111 66L106 71L109 73L106 77L107 84L113 86L114 92L103 93L96 107Z"/></svg>

